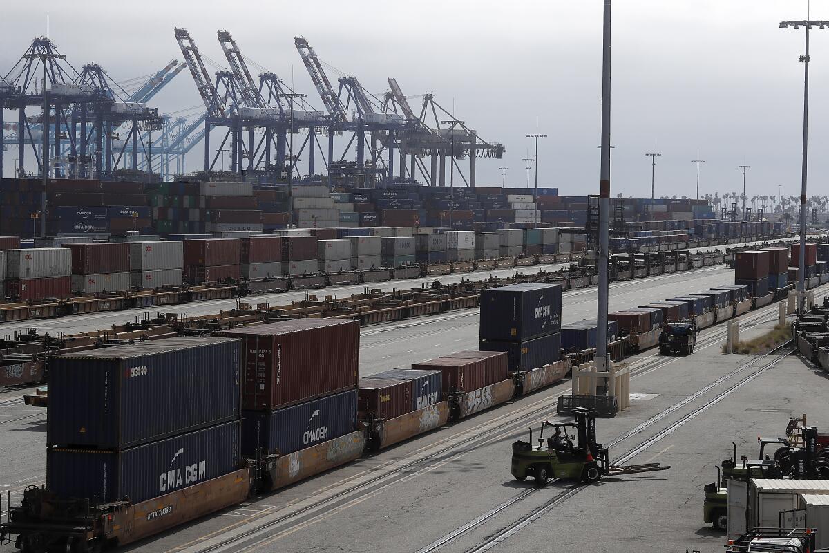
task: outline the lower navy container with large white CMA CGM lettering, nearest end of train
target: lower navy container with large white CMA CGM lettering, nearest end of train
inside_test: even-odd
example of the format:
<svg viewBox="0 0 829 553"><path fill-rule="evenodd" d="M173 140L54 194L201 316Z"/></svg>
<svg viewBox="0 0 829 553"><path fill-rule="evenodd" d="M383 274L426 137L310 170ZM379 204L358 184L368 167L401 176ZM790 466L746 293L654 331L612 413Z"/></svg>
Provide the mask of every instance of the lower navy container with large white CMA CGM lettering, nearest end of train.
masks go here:
<svg viewBox="0 0 829 553"><path fill-rule="evenodd" d="M240 468L239 439L234 421L121 452L48 449L46 488L61 497L143 502Z"/></svg>

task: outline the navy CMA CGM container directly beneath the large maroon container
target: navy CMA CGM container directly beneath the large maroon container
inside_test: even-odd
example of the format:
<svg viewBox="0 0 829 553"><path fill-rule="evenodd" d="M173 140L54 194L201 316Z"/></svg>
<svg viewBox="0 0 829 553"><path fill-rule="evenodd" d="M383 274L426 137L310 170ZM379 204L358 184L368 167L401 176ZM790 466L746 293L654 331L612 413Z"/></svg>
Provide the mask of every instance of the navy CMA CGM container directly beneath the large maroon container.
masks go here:
<svg viewBox="0 0 829 553"><path fill-rule="evenodd" d="M348 390L284 409L242 413L242 455L288 455L357 428L357 392Z"/></svg>

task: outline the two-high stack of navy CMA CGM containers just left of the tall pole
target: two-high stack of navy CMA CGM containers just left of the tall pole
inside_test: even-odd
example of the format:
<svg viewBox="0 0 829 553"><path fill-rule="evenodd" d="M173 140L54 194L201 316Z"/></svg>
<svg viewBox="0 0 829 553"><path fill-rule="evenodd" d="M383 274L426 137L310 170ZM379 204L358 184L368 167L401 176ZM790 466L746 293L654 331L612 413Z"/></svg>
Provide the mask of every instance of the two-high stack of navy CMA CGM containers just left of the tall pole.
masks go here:
<svg viewBox="0 0 829 553"><path fill-rule="evenodd" d="M480 349L507 352L510 371L559 361L561 286L512 284L481 293Z"/></svg>

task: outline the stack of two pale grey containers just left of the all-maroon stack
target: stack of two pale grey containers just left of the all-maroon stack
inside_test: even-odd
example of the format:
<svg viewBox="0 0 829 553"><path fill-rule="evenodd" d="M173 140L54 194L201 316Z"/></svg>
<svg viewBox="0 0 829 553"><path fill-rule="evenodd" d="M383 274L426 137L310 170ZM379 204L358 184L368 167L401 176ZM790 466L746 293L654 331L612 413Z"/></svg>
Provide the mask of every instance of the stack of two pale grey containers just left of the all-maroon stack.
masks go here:
<svg viewBox="0 0 829 553"><path fill-rule="evenodd" d="M136 289L181 286L184 242L155 240L129 243L129 284Z"/></svg>

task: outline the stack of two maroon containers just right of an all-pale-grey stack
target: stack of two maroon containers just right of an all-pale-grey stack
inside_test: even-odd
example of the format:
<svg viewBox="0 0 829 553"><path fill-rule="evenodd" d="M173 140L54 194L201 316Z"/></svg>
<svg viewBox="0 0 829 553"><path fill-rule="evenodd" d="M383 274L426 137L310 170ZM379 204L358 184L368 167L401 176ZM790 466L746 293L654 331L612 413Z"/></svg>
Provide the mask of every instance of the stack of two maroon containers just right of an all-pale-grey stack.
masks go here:
<svg viewBox="0 0 829 553"><path fill-rule="evenodd" d="M240 261L239 240L184 241L184 274L191 285L238 280L241 277Z"/></svg>

